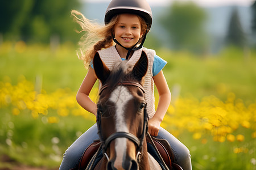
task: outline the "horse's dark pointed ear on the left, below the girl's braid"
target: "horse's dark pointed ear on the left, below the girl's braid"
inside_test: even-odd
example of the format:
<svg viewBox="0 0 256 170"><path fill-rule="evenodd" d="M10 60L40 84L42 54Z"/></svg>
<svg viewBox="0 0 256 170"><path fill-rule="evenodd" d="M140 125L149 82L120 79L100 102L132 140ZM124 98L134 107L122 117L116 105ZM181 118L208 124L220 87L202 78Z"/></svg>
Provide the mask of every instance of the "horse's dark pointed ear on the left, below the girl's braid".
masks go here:
<svg viewBox="0 0 256 170"><path fill-rule="evenodd" d="M96 53L93 58L93 67L97 78L101 80L102 84L104 84L106 82L106 79L108 79L109 77L110 70L101 60L100 55L98 53Z"/></svg>

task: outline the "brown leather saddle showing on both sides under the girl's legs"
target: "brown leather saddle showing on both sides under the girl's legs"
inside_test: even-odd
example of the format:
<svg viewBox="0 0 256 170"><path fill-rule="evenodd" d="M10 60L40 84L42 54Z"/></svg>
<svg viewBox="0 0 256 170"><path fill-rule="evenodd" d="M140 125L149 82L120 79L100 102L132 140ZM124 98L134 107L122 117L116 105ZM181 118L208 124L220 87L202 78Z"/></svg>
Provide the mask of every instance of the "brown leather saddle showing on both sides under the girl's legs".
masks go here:
<svg viewBox="0 0 256 170"><path fill-rule="evenodd" d="M166 139L158 139L155 137L151 137L152 139L151 140L150 137L148 137L148 135L146 139L147 139L148 152L156 159L157 162L159 162L162 168L164 166L161 165L162 164L161 160L164 161L164 163L167 165L169 169L182 170L180 165L173 162L174 154L172 152L170 144L166 141ZM154 142L154 144L152 142ZM90 160L99 150L99 148L100 148L100 141L94 141L92 144L90 144L84 151L84 154L80 159L79 165L77 165L77 167L72 168L70 170L86 169L87 165L90 163ZM159 158L159 154L161 158Z"/></svg>

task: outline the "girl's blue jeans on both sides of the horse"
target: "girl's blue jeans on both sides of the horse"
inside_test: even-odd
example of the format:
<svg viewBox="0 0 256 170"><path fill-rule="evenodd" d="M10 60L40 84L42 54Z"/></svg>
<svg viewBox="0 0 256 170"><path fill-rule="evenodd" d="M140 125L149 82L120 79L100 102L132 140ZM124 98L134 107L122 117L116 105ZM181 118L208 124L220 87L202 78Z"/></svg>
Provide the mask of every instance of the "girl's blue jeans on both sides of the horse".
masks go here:
<svg viewBox="0 0 256 170"><path fill-rule="evenodd" d="M80 158L94 140L99 139L97 134L97 124L85 131L76 141L65 151L60 170L69 170L79 164ZM171 143L172 150L175 154L175 163L179 164L184 170L191 170L191 158L189 150L178 139L176 139L167 130L160 127L157 138L166 139Z"/></svg>

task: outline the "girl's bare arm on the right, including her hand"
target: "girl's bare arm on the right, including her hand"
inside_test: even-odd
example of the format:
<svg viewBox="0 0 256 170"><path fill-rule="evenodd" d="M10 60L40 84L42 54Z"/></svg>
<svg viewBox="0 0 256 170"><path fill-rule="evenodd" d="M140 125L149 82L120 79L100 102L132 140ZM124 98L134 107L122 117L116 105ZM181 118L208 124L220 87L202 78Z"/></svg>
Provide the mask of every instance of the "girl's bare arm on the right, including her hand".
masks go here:
<svg viewBox="0 0 256 170"><path fill-rule="evenodd" d="M171 102L171 92L169 90L166 78L161 70L157 75L153 76L155 86L159 94L158 108L155 115L148 121L148 132L156 136L158 135L160 124Z"/></svg>

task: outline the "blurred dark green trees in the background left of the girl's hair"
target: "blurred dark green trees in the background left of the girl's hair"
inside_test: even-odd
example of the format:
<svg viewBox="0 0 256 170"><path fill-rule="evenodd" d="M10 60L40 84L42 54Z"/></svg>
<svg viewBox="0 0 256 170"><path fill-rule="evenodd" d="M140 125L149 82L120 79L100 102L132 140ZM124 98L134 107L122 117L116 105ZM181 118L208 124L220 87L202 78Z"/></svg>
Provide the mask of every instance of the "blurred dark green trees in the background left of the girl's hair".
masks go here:
<svg viewBox="0 0 256 170"><path fill-rule="evenodd" d="M10 0L0 7L0 33L4 39L49 42L77 41L70 11L79 0Z"/></svg>

